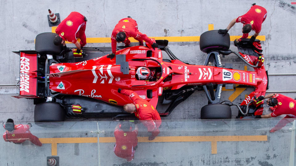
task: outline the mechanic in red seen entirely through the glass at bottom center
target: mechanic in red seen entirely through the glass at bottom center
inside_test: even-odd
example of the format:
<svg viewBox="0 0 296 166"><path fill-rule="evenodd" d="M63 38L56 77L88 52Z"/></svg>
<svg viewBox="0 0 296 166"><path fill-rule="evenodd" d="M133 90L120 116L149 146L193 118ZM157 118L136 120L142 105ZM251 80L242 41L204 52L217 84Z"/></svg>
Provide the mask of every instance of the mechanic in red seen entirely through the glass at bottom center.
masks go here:
<svg viewBox="0 0 296 166"><path fill-rule="evenodd" d="M114 153L116 156L126 159L127 162L134 160L135 150L138 148L138 125L134 130L130 121L122 121L117 124L114 130L116 143Z"/></svg>

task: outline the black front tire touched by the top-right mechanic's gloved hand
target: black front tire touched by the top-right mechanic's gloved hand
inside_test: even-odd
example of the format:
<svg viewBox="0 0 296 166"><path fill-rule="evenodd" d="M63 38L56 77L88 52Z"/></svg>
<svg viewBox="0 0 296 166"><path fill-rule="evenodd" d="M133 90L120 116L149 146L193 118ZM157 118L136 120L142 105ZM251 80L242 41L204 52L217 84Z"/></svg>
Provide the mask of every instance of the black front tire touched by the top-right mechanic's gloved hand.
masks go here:
<svg viewBox="0 0 296 166"><path fill-rule="evenodd" d="M200 35L199 48L202 52L208 53L212 49L228 50L230 46L229 34L218 33L218 30L210 30Z"/></svg>

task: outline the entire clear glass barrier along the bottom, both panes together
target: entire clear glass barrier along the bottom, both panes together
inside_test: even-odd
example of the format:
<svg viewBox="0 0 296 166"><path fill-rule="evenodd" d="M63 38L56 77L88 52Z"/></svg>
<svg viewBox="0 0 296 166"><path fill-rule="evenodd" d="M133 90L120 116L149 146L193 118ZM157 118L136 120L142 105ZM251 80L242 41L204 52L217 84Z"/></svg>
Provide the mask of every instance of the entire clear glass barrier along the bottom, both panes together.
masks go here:
<svg viewBox="0 0 296 166"><path fill-rule="evenodd" d="M147 132L142 123L138 123L138 148L131 163L113 152L116 142L114 129L119 122L126 122L64 122L61 123L63 125L51 128L32 123L30 131L43 145L39 147L28 140L23 144L2 140L0 165L46 165L47 157L59 157L59 165L71 166L288 165L291 146L289 128L292 123L276 132L270 132L280 120L163 120L159 127L160 133L154 140L148 140L151 133ZM293 120L285 119L281 122ZM134 122L130 124L132 128L135 127ZM0 132L6 133L4 128L0 128ZM123 132L122 137L128 138L130 135L127 133L126 137ZM129 137L128 140L133 138ZM117 145L125 149L122 151L128 152L129 144L121 140Z"/></svg>

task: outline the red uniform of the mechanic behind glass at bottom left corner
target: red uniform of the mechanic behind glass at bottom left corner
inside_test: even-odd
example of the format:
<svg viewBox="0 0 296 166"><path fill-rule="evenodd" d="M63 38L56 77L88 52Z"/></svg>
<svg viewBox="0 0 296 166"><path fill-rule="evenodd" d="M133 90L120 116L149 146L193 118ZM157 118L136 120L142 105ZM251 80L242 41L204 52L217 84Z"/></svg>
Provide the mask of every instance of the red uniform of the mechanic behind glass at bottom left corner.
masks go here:
<svg viewBox="0 0 296 166"><path fill-rule="evenodd" d="M6 131L3 134L3 139L6 142L13 142L20 144L26 140L30 140L33 144L42 146L42 143L39 141L38 137L34 136L30 132L30 126L27 124L17 124L14 125L14 131L12 133Z"/></svg>

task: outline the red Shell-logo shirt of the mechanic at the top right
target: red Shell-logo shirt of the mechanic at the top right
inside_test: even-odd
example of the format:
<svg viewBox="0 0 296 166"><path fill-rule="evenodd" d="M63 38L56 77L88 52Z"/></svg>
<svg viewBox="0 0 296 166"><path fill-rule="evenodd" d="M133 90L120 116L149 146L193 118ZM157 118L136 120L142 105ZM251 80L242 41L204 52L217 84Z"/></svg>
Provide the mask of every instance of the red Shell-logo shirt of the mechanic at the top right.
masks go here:
<svg viewBox="0 0 296 166"><path fill-rule="evenodd" d="M251 9L244 15L236 18L236 22L241 22L245 24L251 24L252 30L256 33L261 31L261 24L264 22L267 15L267 11L264 7L254 5ZM244 34L242 38L247 38L249 34Z"/></svg>

